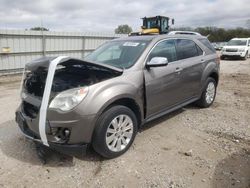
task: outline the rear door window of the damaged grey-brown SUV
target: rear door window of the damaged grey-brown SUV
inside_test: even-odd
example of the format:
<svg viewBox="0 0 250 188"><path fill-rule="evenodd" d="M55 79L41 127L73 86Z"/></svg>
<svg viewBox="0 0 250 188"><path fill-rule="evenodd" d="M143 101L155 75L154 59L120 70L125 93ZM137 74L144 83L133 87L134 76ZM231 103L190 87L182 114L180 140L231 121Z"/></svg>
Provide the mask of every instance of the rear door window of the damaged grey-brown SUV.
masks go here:
<svg viewBox="0 0 250 188"><path fill-rule="evenodd" d="M176 47L179 60L199 56L203 53L192 40L177 39Z"/></svg>

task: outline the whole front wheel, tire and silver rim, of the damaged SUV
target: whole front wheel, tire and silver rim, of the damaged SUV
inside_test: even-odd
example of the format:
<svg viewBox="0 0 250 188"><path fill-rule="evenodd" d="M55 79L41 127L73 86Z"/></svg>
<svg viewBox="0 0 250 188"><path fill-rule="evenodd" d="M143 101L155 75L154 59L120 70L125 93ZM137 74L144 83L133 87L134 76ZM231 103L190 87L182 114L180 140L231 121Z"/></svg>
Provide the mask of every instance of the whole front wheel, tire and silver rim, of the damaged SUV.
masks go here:
<svg viewBox="0 0 250 188"><path fill-rule="evenodd" d="M137 119L125 106L113 106L99 118L93 136L94 150L105 158L125 153L137 133Z"/></svg>

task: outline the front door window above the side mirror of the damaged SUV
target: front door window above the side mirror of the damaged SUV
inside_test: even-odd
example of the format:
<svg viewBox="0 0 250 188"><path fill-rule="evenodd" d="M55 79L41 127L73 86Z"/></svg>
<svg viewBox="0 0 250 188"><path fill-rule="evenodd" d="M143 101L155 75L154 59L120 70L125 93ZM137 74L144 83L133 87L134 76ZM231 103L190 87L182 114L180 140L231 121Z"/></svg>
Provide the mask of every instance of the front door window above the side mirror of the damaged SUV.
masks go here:
<svg viewBox="0 0 250 188"><path fill-rule="evenodd" d="M149 61L153 57L166 57L168 62L176 61L175 40L165 40L158 43L149 55Z"/></svg>

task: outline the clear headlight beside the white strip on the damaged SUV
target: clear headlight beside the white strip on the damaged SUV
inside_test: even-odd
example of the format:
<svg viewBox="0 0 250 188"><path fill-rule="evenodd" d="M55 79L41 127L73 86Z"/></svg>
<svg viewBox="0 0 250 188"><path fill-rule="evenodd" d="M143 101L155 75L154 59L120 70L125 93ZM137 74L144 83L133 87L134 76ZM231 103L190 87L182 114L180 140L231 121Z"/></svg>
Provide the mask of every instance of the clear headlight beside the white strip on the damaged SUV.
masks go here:
<svg viewBox="0 0 250 188"><path fill-rule="evenodd" d="M50 108L69 111L78 105L88 94L88 87L74 88L59 93L50 103Z"/></svg>

